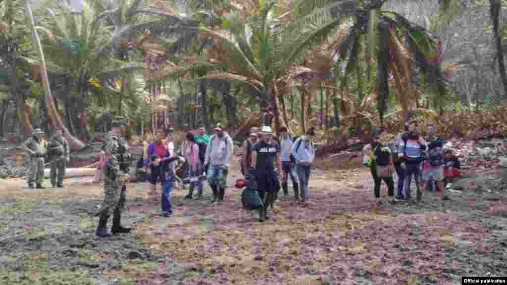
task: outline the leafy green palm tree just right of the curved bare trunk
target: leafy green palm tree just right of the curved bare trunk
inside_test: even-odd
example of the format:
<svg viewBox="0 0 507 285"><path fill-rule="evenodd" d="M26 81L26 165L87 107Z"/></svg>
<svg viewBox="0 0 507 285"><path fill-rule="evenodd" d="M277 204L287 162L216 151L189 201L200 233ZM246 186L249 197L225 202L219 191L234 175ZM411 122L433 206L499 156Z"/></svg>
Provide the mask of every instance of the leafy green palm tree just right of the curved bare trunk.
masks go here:
<svg viewBox="0 0 507 285"><path fill-rule="evenodd" d="M125 52L130 42L118 42L127 26L133 9L140 1L122 0L120 4L130 6L107 6L101 0L86 0L83 10L75 12L68 3L63 3L56 12L48 9L48 17L41 19L41 29L47 34L44 49L48 55L50 70L67 74L68 93L65 94L67 123L76 129L80 138L86 141L88 135L87 106L89 103L90 80L101 79L111 82L125 76L140 64L125 62ZM122 105L120 93L119 106ZM119 108L121 110L121 107ZM121 112L121 111L120 111ZM78 114L79 126L74 128L71 114Z"/></svg>

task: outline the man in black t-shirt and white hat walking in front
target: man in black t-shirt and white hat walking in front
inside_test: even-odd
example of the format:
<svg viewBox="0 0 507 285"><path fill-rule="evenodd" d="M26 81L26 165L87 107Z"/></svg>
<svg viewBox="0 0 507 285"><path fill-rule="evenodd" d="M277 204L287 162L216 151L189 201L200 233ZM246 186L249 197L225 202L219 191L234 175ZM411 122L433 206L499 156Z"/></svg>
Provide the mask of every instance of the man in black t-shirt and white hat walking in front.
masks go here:
<svg viewBox="0 0 507 285"><path fill-rule="evenodd" d="M283 175L281 169L280 147L277 142L270 142L273 136L269 126L261 129L261 140L252 148L251 167L257 177L257 188L263 201L261 221L269 219L268 206L273 205L275 194L278 190L278 176ZM277 173L275 173L275 162Z"/></svg>

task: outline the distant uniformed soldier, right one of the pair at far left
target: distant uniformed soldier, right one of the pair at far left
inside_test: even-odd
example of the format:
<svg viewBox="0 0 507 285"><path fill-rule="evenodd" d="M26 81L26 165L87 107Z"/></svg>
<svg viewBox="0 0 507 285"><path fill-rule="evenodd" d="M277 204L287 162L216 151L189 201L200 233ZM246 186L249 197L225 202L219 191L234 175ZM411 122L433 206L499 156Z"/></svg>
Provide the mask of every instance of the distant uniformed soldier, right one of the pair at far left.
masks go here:
<svg viewBox="0 0 507 285"><path fill-rule="evenodd" d="M51 161L51 185L63 187L63 176L65 176L65 165L69 161L69 147L67 139L62 135L62 129L56 128L48 146L49 160ZM58 172L58 184L56 173Z"/></svg>

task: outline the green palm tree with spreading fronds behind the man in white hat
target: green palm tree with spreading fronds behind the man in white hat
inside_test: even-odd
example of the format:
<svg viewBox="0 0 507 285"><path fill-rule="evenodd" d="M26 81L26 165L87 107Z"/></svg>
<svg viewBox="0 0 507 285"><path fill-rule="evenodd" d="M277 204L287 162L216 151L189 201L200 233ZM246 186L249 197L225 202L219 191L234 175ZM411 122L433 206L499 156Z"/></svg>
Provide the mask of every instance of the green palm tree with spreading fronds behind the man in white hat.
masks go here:
<svg viewBox="0 0 507 285"><path fill-rule="evenodd" d="M301 22L285 23L285 12L277 10L273 1L246 1L229 3L230 14L220 18L220 25L173 25L166 30L199 32L201 39L210 39L213 46L206 57L184 64L178 72L199 68L213 70L200 77L208 82L230 81L246 87L246 91L261 103L263 112L272 113L278 129L279 89L281 79L295 64L315 39L320 38L316 29L322 23L301 28ZM277 14L277 12L279 14ZM329 27L328 27L329 28ZM322 31L327 31L323 29ZM321 32L322 32L321 31ZM287 125L287 122L284 122Z"/></svg>

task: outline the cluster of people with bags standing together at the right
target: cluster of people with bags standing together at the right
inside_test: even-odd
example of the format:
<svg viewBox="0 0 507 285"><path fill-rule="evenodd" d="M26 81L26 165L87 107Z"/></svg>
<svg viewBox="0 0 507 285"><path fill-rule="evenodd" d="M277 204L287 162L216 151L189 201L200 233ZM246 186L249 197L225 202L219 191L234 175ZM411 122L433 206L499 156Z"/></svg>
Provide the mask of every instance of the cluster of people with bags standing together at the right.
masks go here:
<svg viewBox="0 0 507 285"><path fill-rule="evenodd" d="M460 175L459 160L452 149L445 147L444 140L436 135L436 126L428 124L427 136L420 134L417 122L410 120L405 124L405 132L390 140L387 133L380 128L373 130L373 142L364 147L365 165L371 168L374 180L374 195L379 204L382 181L387 185L389 202L412 200L411 183L414 177L416 201L422 199L422 190L436 192L442 200L449 200L446 184L449 179ZM398 176L396 197L394 197L393 173Z"/></svg>

